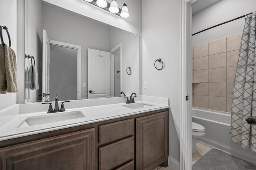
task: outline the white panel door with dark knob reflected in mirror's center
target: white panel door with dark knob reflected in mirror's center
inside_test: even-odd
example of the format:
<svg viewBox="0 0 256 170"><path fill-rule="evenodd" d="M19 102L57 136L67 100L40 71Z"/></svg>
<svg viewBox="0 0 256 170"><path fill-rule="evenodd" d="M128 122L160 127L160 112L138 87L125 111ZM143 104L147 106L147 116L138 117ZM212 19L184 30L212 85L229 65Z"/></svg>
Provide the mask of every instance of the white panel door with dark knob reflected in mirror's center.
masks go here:
<svg viewBox="0 0 256 170"><path fill-rule="evenodd" d="M110 97L110 52L88 48L88 99Z"/></svg>

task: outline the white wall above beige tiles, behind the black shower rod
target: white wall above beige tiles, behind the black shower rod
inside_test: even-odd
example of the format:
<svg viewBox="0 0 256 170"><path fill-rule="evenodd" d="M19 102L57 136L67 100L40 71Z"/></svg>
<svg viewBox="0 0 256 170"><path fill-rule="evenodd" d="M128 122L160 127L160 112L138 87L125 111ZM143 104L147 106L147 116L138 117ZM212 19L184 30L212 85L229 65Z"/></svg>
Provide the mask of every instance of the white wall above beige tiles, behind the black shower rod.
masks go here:
<svg viewBox="0 0 256 170"><path fill-rule="evenodd" d="M255 10L256 0L221 0L192 16L192 34ZM244 18L240 18L192 36L192 46L232 36L243 29Z"/></svg>

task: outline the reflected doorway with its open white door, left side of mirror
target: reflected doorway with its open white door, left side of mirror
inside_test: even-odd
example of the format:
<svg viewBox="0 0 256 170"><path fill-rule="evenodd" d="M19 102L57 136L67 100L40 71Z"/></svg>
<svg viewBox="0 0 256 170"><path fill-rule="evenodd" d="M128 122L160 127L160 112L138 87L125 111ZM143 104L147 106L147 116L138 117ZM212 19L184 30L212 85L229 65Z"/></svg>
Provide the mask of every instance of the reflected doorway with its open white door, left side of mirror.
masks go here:
<svg viewBox="0 0 256 170"><path fill-rule="evenodd" d="M81 46L50 40L43 30L42 57L42 101L81 99Z"/></svg>

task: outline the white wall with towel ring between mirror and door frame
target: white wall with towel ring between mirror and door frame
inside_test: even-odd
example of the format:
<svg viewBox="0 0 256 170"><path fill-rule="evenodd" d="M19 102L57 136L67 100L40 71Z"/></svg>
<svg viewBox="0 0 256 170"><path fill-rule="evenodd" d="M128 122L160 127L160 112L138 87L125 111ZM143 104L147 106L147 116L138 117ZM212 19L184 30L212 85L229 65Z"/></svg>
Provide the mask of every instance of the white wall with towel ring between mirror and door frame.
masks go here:
<svg viewBox="0 0 256 170"><path fill-rule="evenodd" d="M170 99L169 155L180 156L181 1L142 0L142 77L148 82L143 95ZM162 70L154 62L161 58Z"/></svg>

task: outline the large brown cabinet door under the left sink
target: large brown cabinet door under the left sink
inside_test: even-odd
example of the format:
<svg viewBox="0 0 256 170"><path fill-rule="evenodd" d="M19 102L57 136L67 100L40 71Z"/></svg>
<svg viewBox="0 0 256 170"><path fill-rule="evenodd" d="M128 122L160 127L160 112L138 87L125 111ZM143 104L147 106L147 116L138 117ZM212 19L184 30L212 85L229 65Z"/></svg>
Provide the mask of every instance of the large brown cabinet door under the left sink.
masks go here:
<svg viewBox="0 0 256 170"><path fill-rule="evenodd" d="M0 150L1 170L92 170L95 128L72 132Z"/></svg>

